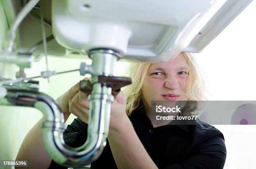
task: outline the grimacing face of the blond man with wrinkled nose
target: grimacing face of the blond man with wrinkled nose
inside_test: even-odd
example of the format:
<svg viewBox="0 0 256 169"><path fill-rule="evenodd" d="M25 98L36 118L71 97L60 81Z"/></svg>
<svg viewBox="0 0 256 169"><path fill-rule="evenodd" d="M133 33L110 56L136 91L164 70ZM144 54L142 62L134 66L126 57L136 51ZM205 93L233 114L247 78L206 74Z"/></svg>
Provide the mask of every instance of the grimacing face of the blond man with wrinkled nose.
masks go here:
<svg viewBox="0 0 256 169"><path fill-rule="evenodd" d="M143 81L142 93L148 107L151 101L187 100L189 66L182 54L168 62L152 63Z"/></svg>

